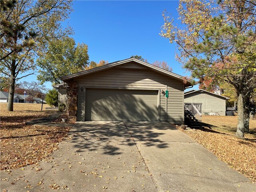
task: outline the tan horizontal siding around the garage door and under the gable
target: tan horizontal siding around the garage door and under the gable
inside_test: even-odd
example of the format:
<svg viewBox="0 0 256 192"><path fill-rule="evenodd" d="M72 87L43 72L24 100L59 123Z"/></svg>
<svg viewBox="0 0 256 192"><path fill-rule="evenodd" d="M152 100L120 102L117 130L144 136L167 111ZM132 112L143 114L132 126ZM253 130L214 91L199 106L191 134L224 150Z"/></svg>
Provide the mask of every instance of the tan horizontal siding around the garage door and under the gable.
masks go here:
<svg viewBox="0 0 256 192"><path fill-rule="evenodd" d="M115 68L80 76L75 78L75 81L84 88L165 90L166 86L168 86L167 120L171 123L183 122L183 83L154 72L140 64L122 64ZM79 99L78 106L81 106L82 102L84 100ZM165 121L166 119L165 108L166 98L163 94L160 94L160 121ZM78 114L81 116L80 119L82 119L81 113L81 110L78 111Z"/></svg>

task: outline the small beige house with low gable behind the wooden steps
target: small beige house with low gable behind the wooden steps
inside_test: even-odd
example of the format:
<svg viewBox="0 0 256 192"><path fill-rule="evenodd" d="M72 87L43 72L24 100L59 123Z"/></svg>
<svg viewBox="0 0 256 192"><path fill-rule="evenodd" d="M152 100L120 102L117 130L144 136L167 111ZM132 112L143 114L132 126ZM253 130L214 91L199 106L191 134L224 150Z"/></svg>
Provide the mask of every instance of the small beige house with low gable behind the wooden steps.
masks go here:
<svg viewBox="0 0 256 192"><path fill-rule="evenodd" d="M226 100L228 97L218 95L206 90L190 90L184 93L184 103L202 104L202 115L226 115Z"/></svg>

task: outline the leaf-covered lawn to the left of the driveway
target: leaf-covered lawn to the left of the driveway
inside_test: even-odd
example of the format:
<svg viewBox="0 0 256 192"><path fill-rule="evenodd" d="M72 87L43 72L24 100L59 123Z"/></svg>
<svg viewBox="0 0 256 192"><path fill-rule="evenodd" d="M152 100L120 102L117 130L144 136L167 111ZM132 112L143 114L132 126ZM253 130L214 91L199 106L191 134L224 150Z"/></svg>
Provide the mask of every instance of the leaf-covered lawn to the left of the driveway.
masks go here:
<svg viewBox="0 0 256 192"><path fill-rule="evenodd" d="M56 111L45 110L48 105L14 103L14 111L0 104L0 169L34 164L58 149L58 143L69 128L25 125L26 121L49 116Z"/></svg>

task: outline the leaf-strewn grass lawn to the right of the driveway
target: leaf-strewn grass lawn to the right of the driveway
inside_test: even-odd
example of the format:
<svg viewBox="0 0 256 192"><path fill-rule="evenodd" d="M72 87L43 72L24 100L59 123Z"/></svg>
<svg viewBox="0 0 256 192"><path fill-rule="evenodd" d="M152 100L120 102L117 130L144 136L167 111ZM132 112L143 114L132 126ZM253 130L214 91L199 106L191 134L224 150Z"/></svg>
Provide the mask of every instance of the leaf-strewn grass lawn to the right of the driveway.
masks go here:
<svg viewBox="0 0 256 192"><path fill-rule="evenodd" d="M202 116L200 130L182 130L230 167L256 181L256 120L250 120L250 134L236 138L237 116Z"/></svg>

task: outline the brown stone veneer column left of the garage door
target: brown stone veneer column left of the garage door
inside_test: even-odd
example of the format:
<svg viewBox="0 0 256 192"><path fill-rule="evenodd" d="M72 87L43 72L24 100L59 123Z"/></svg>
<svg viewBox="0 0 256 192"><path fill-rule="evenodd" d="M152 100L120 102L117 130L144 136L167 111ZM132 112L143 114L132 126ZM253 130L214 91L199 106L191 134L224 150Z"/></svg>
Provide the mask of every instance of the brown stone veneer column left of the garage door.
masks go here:
<svg viewBox="0 0 256 192"><path fill-rule="evenodd" d="M77 97L78 97L78 83L70 83L70 89L68 90L68 120L70 122L76 122L77 117Z"/></svg>

